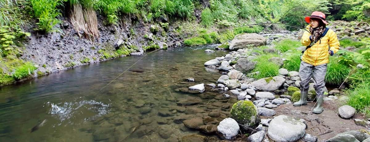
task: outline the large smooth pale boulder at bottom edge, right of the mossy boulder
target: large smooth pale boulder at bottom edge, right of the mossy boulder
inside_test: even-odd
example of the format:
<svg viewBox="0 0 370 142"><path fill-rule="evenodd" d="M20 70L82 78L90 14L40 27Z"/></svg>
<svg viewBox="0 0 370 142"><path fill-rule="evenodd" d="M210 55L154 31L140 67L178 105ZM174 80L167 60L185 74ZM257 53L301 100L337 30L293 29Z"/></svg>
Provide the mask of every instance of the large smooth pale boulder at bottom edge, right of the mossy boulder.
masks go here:
<svg viewBox="0 0 370 142"><path fill-rule="evenodd" d="M279 115L271 120L268 136L278 142L296 142L305 136L305 129L306 125L299 119Z"/></svg>

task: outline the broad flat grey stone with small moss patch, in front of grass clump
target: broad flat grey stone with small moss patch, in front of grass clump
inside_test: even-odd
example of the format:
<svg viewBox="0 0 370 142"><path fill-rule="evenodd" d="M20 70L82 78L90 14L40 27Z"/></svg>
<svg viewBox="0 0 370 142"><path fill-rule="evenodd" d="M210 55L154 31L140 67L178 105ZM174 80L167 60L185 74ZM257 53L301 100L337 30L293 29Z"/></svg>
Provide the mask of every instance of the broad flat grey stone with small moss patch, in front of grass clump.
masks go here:
<svg viewBox="0 0 370 142"><path fill-rule="evenodd" d="M266 77L252 82L250 85L255 86L263 91L275 91L285 83L285 78L280 76Z"/></svg>

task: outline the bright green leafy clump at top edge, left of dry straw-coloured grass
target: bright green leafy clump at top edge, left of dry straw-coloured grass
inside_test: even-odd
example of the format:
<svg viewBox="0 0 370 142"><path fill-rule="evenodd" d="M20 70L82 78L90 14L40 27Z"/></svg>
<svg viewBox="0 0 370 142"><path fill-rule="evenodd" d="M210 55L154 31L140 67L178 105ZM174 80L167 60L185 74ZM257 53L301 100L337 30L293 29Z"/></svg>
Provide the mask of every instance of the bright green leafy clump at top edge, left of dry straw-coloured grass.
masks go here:
<svg viewBox="0 0 370 142"><path fill-rule="evenodd" d="M58 6L63 4L63 0L30 0L35 17L38 19L37 29L41 32L50 32L55 24L60 20L55 17L60 16Z"/></svg>

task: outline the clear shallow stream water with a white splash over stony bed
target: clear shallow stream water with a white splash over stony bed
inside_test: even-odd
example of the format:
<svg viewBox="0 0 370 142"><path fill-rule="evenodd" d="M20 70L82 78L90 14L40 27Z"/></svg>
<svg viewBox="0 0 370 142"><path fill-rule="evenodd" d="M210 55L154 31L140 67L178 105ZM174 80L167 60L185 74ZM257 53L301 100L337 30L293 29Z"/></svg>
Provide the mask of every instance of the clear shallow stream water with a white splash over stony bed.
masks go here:
<svg viewBox="0 0 370 142"><path fill-rule="evenodd" d="M178 100L194 97L176 92L220 76L203 64L226 52L204 53L214 47L159 50L144 57L109 86L112 79L140 56L123 57L53 73L0 89L1 142L177 141L198 133L174 119L185 115ZM184 79L194 77L195 83ZM209 100L194 107L211 111ZM190 108L191 108L190 107ZM191 109L192 110L192 109ZM220 109L221 110L221 109ZM31 128L47 119L44 126Z"/></svg>

